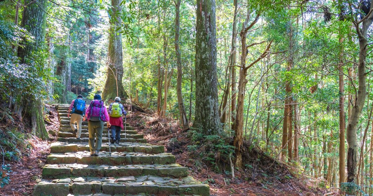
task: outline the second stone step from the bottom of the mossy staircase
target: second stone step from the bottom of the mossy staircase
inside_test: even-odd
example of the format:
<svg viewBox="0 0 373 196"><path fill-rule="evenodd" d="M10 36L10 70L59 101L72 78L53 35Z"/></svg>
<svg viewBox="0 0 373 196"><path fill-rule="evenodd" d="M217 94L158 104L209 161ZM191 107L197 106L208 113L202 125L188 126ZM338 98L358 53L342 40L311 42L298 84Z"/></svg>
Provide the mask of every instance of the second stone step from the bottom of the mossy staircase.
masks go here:
<svg viewBox="0 0 373 196"><path fill-rule="evenodd" d="M163 177L185 177L188 168L179 164L169 165L46 165L43 178L62 177L125 177L133 175L159 175Z"/></svg>

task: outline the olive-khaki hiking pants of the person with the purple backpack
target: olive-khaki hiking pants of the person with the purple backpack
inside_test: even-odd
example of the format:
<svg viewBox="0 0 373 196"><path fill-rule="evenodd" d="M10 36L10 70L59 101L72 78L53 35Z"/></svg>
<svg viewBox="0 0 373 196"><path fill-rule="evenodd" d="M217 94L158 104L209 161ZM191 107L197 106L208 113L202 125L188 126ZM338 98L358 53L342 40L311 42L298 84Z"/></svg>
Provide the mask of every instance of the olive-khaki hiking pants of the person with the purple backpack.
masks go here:
<svg viewBox="0 0 373 196"><path fill-rule="evenodd" d="M104 121L88 121L88 132L90 151L97 150L100 152L102 143L102 131L104 130ZM96 137L96 145L94 143L94 138Z"/></svg>

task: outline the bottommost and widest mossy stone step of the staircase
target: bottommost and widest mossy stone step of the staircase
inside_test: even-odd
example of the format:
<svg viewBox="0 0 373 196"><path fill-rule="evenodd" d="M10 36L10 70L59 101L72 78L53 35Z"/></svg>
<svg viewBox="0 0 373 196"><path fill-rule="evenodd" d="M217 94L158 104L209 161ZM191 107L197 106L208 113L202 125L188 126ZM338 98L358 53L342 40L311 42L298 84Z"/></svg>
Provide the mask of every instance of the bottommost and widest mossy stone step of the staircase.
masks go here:
<svg viewBox="0 0 373 196"><path fill-rule="evenodd" d="M201 195L209 196L210 187L194 178L159 177L153 175L124 178L65 178L42 180L34 186L34 196L67 196L103 193L125 195L147 193L154 195Z"/></svg>

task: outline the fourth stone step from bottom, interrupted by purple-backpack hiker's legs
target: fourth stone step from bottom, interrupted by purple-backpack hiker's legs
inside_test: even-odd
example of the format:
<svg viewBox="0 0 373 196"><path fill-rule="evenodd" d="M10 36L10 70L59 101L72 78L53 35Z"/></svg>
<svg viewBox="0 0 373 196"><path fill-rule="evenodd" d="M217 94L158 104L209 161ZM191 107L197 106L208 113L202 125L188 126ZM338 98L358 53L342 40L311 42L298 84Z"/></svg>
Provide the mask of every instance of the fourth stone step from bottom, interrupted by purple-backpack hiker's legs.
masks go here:
<svg viewBox="0 0 373 196"><path fill-rule="evenodd" d="M125 142L110 145L112 152L142 152L147 154L159 154L164 153L164 146L153 145L148 143L132 143ZM103 143L101 147L102 151L109 151L107 143ZM88 143L69 143L69 142L54 142L51 144L51 153L65 153L65 152L79 152L79 151L90 151Z"/></svg>

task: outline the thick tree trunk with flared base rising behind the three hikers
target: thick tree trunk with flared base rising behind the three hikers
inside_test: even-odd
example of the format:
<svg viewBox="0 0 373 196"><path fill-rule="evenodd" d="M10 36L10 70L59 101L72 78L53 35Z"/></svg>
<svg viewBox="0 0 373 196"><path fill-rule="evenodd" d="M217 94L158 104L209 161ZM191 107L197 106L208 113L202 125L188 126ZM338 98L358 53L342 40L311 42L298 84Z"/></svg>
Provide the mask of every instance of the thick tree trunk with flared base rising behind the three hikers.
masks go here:
<svg viewBox="0 0 373 196"><path fill-rule="evenodd" d="M123 78L123 52L122 52L122 33L117 31L122 25L120 17L122 8L120 0L111 0L111 13L109 28L109 45L107 52L107 79L105 88L102 92L102 99L107 101L114 100L115 97L120 97L122 100L128 98L127 93L124 91L122 78Z"/></svg>

